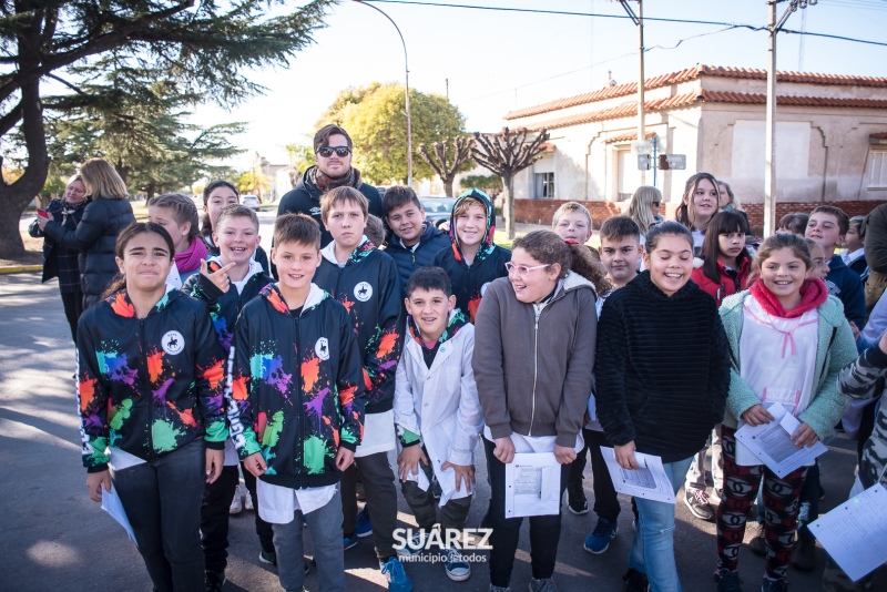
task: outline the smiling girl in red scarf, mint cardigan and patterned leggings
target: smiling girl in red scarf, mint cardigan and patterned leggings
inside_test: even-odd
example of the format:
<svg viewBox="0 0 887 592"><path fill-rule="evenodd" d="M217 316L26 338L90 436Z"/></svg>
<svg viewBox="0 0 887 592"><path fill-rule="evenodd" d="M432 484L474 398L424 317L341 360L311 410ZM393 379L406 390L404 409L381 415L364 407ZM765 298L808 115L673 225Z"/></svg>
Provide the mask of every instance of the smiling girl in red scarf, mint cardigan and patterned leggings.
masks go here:
<svg viewBox="0 0 887 592"><path fill-rule="evenodd" d="M777 477L736 441L736 429L773 421L767 407L778 402L801 421L792 435L795 446L812 446L832 433L847 409L835 382L856 357L856 346L840 300L828 296L822 279L809 276L812 265L804 238L775 234L755 256L759 279L721 307L732 366L722 428L725 487L717 509L720 591L740 590L738 553L762 478L767 562L761 590L787 590L786 568L808 469Z"/></svg>

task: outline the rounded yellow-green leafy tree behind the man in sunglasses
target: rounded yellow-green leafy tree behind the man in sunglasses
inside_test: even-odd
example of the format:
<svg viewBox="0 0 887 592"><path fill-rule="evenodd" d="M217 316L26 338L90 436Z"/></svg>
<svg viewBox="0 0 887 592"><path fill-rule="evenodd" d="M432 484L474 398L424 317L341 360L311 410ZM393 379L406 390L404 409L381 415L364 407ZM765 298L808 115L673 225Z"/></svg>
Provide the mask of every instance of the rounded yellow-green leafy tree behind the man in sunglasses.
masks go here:
<svg viewBox="0 0 887 592"><path fill-rule="evenodd" d="M439 94L410 89L414 144L443 142L465 133L465 116ZM373 84L339 93L318 122L318 129L337 123L348 131L355 146L354 165L376 183L407 181L406 92L399 84ZM427 162L414 162L416 178L430 178Z"/></svg>

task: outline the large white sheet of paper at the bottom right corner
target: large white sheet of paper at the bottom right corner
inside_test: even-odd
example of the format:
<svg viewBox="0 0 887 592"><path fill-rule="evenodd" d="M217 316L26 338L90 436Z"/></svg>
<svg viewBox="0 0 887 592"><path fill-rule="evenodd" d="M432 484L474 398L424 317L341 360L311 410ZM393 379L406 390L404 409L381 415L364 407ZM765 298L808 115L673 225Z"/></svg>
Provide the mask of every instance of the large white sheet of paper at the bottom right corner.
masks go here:
<svg viewBox="0 0 887 592"><path fill-rule="evenodd" d="M809 529L856 582L887 563L887 489L881 484L866 489L819 517Z"/></svg>

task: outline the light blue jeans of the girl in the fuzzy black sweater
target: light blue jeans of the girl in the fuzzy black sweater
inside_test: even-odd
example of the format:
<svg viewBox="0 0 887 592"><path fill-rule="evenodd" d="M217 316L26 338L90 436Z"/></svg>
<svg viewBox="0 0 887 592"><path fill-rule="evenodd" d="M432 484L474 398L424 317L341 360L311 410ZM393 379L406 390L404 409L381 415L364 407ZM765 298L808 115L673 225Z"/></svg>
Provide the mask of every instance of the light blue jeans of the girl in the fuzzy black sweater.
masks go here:
<svg viewBox="0 0 887 592"><path fill-rule="evenodd" d="M684 484L693 457L663 463L674 493ZM629 568L645 573L653 592L681 592L674 563L674 504L634 498L638 528L629 554Z"/></svg>

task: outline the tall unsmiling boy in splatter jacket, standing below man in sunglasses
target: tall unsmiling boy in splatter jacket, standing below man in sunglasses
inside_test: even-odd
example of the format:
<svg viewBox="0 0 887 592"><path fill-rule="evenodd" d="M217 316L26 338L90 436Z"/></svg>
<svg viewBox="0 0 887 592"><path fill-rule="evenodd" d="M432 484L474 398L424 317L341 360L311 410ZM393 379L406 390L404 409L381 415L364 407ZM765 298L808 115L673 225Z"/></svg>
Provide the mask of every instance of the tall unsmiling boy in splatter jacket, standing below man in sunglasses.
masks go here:
<svg viewBox="0 0 887 592"><path fill-rule="evenodd" d="M341 477L343 545L357 544L358 534L371 528L379 568L388 589L412 590L394 544L397 528L397 489L387 453L396 447L395 372L402 347L400 280L391 257L364 235L367 200L351 187L336 187L320 198L320 214L333 236L320 251L315 283L348 310L364 366L366 422L355 466ZM357 514L357 480L364 484L367 506ZM371 525L369 512L371 508ZM358 523L365 524L357 532ZM369 527L369 528L366 528Z"/></svg>

